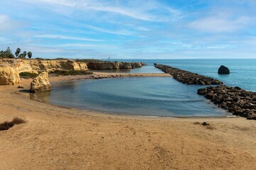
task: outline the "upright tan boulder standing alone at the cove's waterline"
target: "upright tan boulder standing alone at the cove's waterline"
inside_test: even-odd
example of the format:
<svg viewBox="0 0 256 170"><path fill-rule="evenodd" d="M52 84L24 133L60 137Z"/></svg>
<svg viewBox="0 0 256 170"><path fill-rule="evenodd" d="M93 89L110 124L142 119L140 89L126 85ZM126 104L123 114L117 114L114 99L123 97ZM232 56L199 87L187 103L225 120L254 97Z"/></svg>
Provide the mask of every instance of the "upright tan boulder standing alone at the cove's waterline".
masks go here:
<svg viewBox="0 0 256 170"><path fill-rule="evenodd" d="M31 82L31 93L37 93L42 91L50 91L50 82L48 81L48 72L41 72Z"/></svg>

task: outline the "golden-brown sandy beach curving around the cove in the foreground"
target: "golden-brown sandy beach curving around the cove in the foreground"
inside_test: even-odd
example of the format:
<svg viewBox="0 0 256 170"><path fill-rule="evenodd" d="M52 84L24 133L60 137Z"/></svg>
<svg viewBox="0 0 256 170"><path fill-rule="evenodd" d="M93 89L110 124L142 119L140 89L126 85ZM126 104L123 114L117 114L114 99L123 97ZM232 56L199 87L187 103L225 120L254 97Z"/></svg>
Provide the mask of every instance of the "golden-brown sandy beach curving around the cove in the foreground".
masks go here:
<svg viewBox="0 0 256 170"><path fill-rule="evenodd" d="M256 169L255 120L105 115L20 90L0 86L0 122L28 121L0 131L0 169ZM203 121L210 126L193 124Z"/></svg>

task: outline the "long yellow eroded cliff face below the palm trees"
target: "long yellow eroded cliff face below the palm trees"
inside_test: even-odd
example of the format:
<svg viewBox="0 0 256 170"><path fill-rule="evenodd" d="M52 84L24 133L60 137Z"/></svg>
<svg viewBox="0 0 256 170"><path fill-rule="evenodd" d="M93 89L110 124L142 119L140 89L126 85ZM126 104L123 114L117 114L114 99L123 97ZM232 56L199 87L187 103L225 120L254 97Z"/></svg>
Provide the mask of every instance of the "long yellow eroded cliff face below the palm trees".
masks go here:
<svg viewBox="0 0 256 170"><path fill-rule="evenodd" d="M63 70L87 70L87 64L75 62L74 60L21 60L21 59L2 59L0 67L13 67L20 72L48 71L56 69Z"/></svg>

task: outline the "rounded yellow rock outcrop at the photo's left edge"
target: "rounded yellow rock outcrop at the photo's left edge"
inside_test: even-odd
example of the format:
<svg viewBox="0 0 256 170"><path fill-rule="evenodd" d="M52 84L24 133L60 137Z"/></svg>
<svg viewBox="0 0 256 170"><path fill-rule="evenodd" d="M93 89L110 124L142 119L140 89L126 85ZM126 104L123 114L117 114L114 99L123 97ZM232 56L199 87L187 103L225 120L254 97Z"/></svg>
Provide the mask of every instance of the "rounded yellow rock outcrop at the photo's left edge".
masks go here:
<svg viewBox="0 0 256 170"><path fill-rule="evenodd" d="M14 85L20 83L20 81L16 69L12 67L0 67L0 85Z"/></svg>

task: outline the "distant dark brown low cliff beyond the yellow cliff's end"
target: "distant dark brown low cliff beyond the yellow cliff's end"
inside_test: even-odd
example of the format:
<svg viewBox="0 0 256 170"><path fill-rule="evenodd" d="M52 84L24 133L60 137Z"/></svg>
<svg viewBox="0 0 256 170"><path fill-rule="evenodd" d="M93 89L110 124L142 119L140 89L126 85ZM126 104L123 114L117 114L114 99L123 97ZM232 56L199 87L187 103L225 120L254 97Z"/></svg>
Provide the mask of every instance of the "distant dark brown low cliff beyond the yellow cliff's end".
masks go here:
<svg viewBox="0 0 256 170"><path fill-rule="evenodd" d="M145 65L143 62L89 62L89 69L134 69Z"/></svg>

